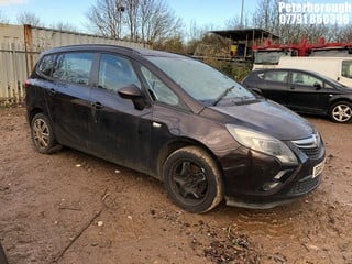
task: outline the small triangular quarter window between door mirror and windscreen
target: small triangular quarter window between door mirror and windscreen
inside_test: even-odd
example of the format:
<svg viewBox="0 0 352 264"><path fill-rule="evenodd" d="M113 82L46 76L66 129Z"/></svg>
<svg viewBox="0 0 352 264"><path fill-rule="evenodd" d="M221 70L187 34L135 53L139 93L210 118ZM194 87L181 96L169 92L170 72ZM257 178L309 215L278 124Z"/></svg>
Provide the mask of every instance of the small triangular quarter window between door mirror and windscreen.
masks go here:
<svg viewBox="0 0 352 264"><path fill-rule="evenodd" d="M172 106L178 106L179 99L177 95L169 89L158 77L145 67L141 67L142 74L147 82L147 89L153 99Z"/></svg>

